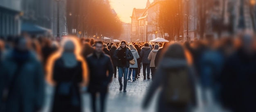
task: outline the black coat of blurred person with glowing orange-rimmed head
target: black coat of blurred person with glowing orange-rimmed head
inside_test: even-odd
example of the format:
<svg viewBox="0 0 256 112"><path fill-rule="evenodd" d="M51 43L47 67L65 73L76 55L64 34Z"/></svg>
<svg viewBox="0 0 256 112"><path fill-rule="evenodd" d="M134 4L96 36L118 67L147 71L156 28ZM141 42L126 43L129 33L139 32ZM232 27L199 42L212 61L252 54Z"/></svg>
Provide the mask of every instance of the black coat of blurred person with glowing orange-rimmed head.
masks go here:
<svg viewBox="0 0 256 112"><path fill-rule="evenodd" d="M81 111L81 94L79 92L79 83L82 82L82 63L79 61L75 67L67 68L63 64L62 58L56 60L54 64L53 79L56 83L56 88L54 92L54 103L52 112L82 112ZM73 80L73 81L72 81ZM70 82L73 84L71 86L71 91L69 95L63 96L58 93L60 89L60 84L63 82ZM72 99L78 100L78 106L72 105Z"/></svg>

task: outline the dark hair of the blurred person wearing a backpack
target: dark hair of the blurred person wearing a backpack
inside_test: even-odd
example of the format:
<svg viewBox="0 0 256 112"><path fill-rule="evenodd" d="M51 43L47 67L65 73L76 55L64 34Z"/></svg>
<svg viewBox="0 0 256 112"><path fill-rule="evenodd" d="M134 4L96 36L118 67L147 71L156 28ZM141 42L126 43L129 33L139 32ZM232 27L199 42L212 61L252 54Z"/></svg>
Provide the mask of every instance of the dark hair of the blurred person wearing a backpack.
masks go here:
<svg viewBox="0 0 256 112"><path fill-rule="evenodd" d="M165 58L174 58L174 59L186 59L185 51L182 45L175 43L168 47L167 51L164 54Z"/></svg>

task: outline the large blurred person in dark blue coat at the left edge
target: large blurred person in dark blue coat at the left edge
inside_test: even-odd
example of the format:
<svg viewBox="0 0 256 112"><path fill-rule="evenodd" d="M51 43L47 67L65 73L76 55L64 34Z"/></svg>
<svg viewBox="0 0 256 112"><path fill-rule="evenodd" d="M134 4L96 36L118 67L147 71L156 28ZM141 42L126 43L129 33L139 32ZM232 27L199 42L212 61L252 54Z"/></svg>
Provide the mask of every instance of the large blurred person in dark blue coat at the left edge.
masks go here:
<svg viewBox="0 0 256 112"><path fill-rule="evenodd" d="M0 65L1 112L36 112L43 106L43 67L29 48L28 38L17 37Z"/></svg>

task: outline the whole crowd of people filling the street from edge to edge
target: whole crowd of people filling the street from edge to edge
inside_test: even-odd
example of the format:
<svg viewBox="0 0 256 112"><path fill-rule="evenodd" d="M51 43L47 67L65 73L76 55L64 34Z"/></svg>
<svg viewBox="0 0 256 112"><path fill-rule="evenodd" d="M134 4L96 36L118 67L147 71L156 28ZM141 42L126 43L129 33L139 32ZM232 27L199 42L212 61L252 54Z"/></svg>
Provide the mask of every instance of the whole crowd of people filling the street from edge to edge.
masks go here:
<svg viewBox="0 0 256 112"><path fill-rule="evenodd" d="M9 36L0 39L0 56L1 112L42 109L45 81L55 86L52 112L82 112L81 87L91 95L93 112L99 94L104 112L112 78L123 92L128 81L151 78L142 107L161 87L157 112L191 112L198 106L197 86L203 105L256 112L256 40L250 34L169 43Z"/></svg>

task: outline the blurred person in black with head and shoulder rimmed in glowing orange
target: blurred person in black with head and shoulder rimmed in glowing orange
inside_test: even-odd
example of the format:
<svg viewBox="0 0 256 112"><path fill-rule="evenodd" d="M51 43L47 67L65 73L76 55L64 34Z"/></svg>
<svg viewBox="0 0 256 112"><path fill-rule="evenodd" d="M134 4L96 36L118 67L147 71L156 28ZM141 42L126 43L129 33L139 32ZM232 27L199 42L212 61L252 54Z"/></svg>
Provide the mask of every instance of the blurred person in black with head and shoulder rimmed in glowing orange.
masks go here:
<svg viewBox="0 0 256 112"><path fill-rule="evenodd" d="M54 60L52 79L56 84L52 112L82 112L80 86L87 76L87 65L79 57L79 41L66 38L63 52Z"/></svg>

